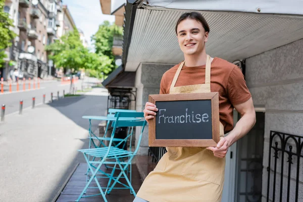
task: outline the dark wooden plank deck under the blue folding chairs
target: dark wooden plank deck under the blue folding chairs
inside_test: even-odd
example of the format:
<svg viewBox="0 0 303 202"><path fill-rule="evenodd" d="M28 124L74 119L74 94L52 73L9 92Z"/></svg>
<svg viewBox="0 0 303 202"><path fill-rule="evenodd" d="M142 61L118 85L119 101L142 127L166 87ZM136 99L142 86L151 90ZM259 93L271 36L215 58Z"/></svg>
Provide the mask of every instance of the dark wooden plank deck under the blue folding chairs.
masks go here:
<svg viewBox="0 0 303 202"><path fill-rule="evenodd" d="M61 192L59 198L57 199L57 202L70 202L75 201L80 193L82 192L84 186L85 186L85 180L86 180L86 172L87 166L85 163L79 164L78 168L66 184L65 188ZM105 171L105 167L102 167L102 170ZM111 170L110 170L111 171ZM123 180L125 181L125 180ZM102 187L107 186L108 179L107 178L99 178L99 183ZM132 186L134 190L137 192L142 184L142 180L140 178L139 172L137 170L137 167L135 164L132 165ZM90 186L97 187L95 181L90 184ZM119 185L121 187L121 185ZM118 187L118 186L117 186ZM99 189L97 188L88 188L87 194L98 194ZM106 195L107 200L109 202L132 202L134 199L134 196L130 194L129 189L113 189L113 191ZM97 196L91 196L86 198L81 198L80 201L86 201L86 202L100 202L104 201L102 195Z"/></svg>

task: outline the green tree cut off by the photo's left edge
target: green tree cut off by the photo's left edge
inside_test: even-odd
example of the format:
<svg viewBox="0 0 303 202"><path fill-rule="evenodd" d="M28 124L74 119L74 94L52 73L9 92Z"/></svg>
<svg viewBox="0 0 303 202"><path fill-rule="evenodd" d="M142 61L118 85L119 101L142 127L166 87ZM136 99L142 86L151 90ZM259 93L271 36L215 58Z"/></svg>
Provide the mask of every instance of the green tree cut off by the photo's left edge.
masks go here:
<svg viewBox="0 0 303 202"><path fill-rule="evenodd" d="M11 41L16 37L16 33L10 29L14 27L13 20L10 19L9 14L4 12L5 0L0 0L0 67L7 57L4 49L11 46Z"/></svg>

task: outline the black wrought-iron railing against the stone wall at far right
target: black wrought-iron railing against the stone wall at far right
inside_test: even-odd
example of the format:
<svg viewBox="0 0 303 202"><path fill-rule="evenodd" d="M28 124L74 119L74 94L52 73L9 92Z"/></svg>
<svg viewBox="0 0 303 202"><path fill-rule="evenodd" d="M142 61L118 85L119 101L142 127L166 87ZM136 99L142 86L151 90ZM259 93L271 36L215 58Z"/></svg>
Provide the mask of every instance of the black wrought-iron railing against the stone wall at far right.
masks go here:
<svg viewBox="0 0 303 202"><path fill-rule="evenodd" d="M303 188L303 185L299 184L302 147L301 136L270 132L267 201L276 201L277 198L279 198L277 201L290 201L290 193L294 193L294 197L293 195L291 197L293 201L298 201L299 186L301 190ZM284 177L287 177L286 182L283 182Z"/></svg>

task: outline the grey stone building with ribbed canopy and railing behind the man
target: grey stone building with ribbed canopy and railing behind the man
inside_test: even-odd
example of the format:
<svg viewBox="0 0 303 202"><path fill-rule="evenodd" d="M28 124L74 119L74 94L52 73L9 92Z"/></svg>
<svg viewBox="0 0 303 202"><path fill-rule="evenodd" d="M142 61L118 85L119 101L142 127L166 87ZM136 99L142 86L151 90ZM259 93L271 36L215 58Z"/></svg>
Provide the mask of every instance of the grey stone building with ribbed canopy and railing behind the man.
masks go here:
<svg viewBox="0 0 303 202"><path fill-rule="evenodd" d="M285 2L276 3L282 8ZM211 28L207 53L242 69L257 116L226 155L224 202L303 200L303 13L294 9L303 5L291 1L279 10L272 4L127 1L123 68L103 82L110 88L120 75L134 72L136 104L129 109L143 111L148 95L159 93L164 72L183 60L174 33L178 17L200 10ZM239 119L234 111L234 124ZM159 161L165 149L148 147L146 128L139 152L148 162Z"/></svg>

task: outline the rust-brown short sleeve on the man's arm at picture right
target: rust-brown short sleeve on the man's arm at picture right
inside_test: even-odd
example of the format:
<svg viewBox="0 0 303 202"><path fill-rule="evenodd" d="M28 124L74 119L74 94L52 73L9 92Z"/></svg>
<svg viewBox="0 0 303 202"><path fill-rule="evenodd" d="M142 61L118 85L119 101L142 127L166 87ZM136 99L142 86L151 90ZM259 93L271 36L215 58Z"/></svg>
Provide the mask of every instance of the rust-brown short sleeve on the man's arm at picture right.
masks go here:
<svg viewBox="0 0 303 202"><path fill-rule="evenodd" d="M244 103L251 97L251 94L246 86L243 73L238 66L233 68L229 76L227 92L232 105Z"/></svg>

